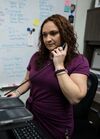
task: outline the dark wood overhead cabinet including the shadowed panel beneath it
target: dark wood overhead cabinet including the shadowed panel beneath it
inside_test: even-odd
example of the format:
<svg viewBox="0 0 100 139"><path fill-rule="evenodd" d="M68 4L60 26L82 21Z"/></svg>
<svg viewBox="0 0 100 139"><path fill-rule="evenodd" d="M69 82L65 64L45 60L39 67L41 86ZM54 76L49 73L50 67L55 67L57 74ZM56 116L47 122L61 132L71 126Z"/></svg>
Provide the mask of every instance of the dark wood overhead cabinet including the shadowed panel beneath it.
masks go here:
<svg viewBox="0 0 100 139"><path fill-rule="evenodd" d="M95 49L100 49L100 8L89 9L87 11L84 55L89 60L90 66Z"/></svg>

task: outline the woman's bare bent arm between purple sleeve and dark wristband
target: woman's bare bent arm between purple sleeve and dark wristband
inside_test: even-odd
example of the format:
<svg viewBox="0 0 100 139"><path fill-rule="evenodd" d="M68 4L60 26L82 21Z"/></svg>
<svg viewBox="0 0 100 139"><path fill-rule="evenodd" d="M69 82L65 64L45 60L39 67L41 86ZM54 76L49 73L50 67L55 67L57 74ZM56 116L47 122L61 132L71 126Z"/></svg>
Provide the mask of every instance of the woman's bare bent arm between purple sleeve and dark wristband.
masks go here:
<svg viewBox="0 0 100 139"><path fill-rule="evenodd" d="M79 77L80 79L74 80L66 72L57 75L62 93L72 104L78 103L86 95L87 77L85 75Z"/></svg>

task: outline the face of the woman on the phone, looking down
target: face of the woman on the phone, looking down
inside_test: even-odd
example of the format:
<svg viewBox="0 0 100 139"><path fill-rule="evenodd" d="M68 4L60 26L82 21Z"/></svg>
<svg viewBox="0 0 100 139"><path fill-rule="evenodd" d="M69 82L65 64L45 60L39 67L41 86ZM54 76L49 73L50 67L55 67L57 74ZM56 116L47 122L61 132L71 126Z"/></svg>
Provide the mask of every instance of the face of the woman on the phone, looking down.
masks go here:
<svg viewBox="0 0 100 139"><path fill-rule="evenodd" d="M42 28L43 41L46 48L50 51L61 46L61 36L58 27L48 21Z"/></svg>

